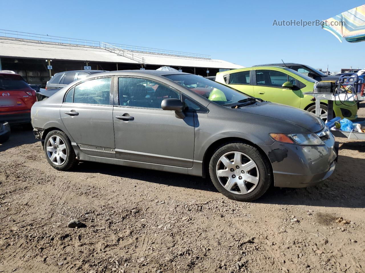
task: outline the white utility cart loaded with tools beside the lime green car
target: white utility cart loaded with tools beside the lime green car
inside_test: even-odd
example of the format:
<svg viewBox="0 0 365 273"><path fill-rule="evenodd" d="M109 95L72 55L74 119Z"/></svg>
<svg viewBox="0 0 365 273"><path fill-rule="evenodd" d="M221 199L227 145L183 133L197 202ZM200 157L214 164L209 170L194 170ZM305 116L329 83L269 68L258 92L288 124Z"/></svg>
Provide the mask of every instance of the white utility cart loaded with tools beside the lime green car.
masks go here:
<svg viewBox="0 0 365 273"><path fill-rule="evenodd" d="M320 101L328 100L327 104L327 120L333 119L333 102L343 102L343 101L363 101L365 100L365 96L360 96L360 93L357 93L357 96L354 93L340 93L334 95L333 93L318 93L318 92L304 92L304 95L313 96L316 100L316 116L320 114ZM365 133L360 132L346 132L346 131L338 131L331 130L332 134L335 137L339 138L352 138L352 139L365 139Z"/></svg>

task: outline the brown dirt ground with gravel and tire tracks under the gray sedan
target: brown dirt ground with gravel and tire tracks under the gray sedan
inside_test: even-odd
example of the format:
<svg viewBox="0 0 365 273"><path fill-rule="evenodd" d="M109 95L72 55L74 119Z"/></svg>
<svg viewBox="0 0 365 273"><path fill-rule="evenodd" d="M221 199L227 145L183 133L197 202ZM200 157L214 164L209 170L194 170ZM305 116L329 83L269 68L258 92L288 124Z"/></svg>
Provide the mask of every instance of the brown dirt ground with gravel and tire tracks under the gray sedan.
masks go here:
<svg viewBox="0 0 365 273"><path fill-rule="evenodd" d="M0 272L365 272L365 142L337 141L319 186L243 203L188 175L90 162L59 172L15 130L0 145Z"/></svg>

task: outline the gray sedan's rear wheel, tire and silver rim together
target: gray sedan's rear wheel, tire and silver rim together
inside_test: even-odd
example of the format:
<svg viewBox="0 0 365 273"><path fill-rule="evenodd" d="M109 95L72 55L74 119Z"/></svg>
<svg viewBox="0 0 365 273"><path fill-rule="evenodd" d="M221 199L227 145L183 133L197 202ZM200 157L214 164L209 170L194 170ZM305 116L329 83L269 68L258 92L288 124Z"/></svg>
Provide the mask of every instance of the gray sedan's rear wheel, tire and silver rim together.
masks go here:
<svg viewBox="0 0 365 273"><path fill-rule="evenodd" d="M58 171L69 170L76 164L76 154L70 139L62 131L49 132L43 148L48 163Z"/></svg>

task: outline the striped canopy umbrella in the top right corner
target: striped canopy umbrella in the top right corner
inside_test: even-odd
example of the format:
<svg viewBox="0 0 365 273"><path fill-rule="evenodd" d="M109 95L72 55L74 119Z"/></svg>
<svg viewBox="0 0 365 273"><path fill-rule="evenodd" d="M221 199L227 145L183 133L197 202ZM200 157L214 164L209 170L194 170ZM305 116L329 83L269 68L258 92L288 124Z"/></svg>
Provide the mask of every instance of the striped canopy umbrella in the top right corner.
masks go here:
<svg viewBox="0 0 365 273"><path fill-rule="evenodd" d="M365 5L350 9L323 21L322 28L331 32L342 43L365 41Z"/></svg>

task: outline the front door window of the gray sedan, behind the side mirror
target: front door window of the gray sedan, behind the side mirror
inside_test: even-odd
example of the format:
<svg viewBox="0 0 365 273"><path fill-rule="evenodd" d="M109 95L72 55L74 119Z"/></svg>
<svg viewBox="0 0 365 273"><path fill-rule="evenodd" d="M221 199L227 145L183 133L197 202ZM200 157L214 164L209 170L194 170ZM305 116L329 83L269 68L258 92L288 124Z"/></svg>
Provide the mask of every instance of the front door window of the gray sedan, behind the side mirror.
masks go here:
<svg viewBox="0 0 365 273"><path fill-rule="evenodd" d="M164 99L179 99L178 92L159 83L138 78L119 78L119 105L161 108Z"/></svg>

